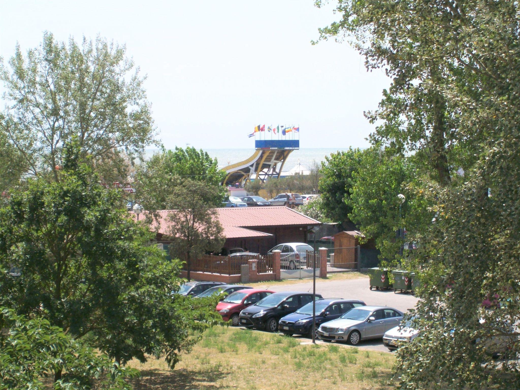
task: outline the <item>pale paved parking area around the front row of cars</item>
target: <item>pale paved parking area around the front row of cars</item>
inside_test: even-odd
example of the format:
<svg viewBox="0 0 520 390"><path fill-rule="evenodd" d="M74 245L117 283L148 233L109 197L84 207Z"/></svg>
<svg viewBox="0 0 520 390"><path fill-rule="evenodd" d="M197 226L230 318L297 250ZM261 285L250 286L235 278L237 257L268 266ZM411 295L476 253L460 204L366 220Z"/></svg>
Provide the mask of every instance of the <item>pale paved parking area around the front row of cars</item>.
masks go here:
<svg viewBox="0 0 520 390"><path fill-rule="evenodd" d="M256 287L262 288L261 285ZM272 291L313 291L313 281L309 279L302 280L301 283L288 285L269 285L269 290ZM361 277L358 279L347 280L320 280L316 279L316 292L321 294L324 298L345 298L356 299L364 301L367 305L374 306L389 306L398 310L406 312L408 309L414 308L417 305L418 298L412 294L394 293L393 290L381 291L370 290L369 279ZM294 336L302 339L302 343L311 342L303 336ZM318 341L318 343L328 343ZM349 348L346 343L332 342L340 346ZM388 348L383 345L382 340L368 340L362 341L357 345L361 349L378 350L381 352L388 352Z"/></svg>

